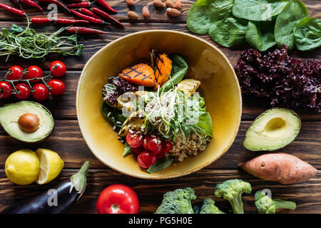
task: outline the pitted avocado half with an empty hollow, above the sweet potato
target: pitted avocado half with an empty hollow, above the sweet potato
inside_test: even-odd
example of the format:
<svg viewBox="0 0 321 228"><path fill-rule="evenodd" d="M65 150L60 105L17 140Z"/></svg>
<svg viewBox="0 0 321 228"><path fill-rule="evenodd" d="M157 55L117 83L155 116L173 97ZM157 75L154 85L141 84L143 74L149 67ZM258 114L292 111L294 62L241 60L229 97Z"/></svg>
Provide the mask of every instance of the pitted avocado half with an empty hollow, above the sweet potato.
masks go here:
<svg viewBox="0 0 321 228"><path fill-rule="evenodd" d="M248 128L243 145L248 150L278 150L290 144L300 132L301 120L287 108L271 108Z"/></svg>

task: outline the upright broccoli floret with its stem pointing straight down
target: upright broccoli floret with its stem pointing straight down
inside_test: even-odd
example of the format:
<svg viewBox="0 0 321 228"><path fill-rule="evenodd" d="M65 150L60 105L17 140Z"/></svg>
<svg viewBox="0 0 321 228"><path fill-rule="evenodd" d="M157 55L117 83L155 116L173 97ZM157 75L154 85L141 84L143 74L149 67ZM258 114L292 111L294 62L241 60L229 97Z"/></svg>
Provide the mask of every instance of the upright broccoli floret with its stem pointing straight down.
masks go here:
<svg viewBox="0 0 321 228"><path fill-rule="evenodd" d="M226 180L215 187L215 197L227 199L232 206L234 214L244 214L242 194L250 193L251 185L243 180Z"/></svg>

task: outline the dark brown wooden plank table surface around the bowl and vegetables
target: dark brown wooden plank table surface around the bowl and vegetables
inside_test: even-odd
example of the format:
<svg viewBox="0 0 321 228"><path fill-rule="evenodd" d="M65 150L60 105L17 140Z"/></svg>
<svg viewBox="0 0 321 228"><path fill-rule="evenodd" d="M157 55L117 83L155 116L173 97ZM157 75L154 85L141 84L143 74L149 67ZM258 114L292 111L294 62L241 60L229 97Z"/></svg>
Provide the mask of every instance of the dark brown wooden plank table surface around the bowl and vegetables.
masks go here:
<svg viewBox="0 0 321 228"><path fill-rule="evenodd" d="M0 0L0 2L14 6L14 4L9 0ZM140 212L153 213L156 211L158 205L161 204L163 193L169 190L189 186L193 187L196 195L198 195L198 199L195 200L195 203L199 203L201 199L204 199L205 197L213 198L213 189L216 184L232 178L241 178L242 180L250 182L253 187L253 193L250 195L245 194L243 196L245 213L256 213L254 206L254 192L255 190L264 188L272 190L272 195L274 197L290 199L297 203L297 209L295 209L295 211L282 210L280 213L321 213L321 115L313 111L296 110L297 113L299 113L300 118L302 118L300 134L294 142L280 150L280 152L287 152L291 155L300 157L302 160L309 162L319 170L319 174L315 178L304 183L280 185L277 182L259 180L258 178L248 175L238 169L238 162L250 160L252 157L261 154L259 152L249 152L242 145L245 132L250 123L252 123L256 116L269 108L267 103L262 102L262 100L252 98L243 99L242 122L233 146L230 147L230 150L228 150L223 157L203 170L172 180L141 180L127 175L122 175L99 162L96 157L93 156L91 150L88 149L86 142L83 140L76 118L76 87L78 78L81 74L81 69L93 53L96 53L96 51L107 43L121 36L125 36L136 31L151 29L172 29L175 31L189 33L185 24L185 19L188 14L188 9L194 1L183 0L182 16L177 19L173 19L168 18L168 16L165 15L165 9L157 11L150 0L136 0L136 4L133 6L133 11L140 14L143 6L148 5L148 8L151 10L151 18L144 20L140 16L140 19L135 21L135 23L131 23L126 16L128 7L126 6L125 0L108 0L107 2L118 10L119 13L116 14L115 17L126 25L126 29L91 26L93 28L101 28L104 31L108 31L108 33L103 36L86 36L86 38L81 38L81 43L85 46L85 51L81 57L59 58L66 63L68 68L66 76L63 78L63 81L66 83L66 92L61 95L61 97L54 98L54 100L44 103L44 105L46 105L54 115L54 133L52 133L44 142L37 145L27 145L26 143L17 142L9 137L3 129L0 130L0 210L10 204L19 202L21 199L25 199L32 195L36 195L43 190L49 189L59 180L72 175L79 167L81 167L81 164L84 161L89 160L91 162L91 169L88 172L88 185L86 192L77 204L72 207L69 211L70 213L96 213L96 200L99 193L111 184L121 183L133 187L133 190L138 194L140 201ZM310 16L321 18L320 0L305 0L303 2L307 5ZM41 6L46 8L46 4L41 4ZM27 6L24 7L24 10L29 16L41 16L39 11ZM46 11L42 16L46 16ZM66 17L67 15L59 14L58 16ZM24 21L24 19L0 9L0 27L9 28L13 23L20 26L26 25L26 21ZM58 27L53 25L37 25L33 26L33 28L35 28L36 31L56 31ZM218 46L218 44L210 40L208 35L197 36L210 41L215 46ZM233 65L236 63L237 58L242 51L241 49L223 48L221 46L218 47L226 56L228 56ZM310 52L291 51L290 56L305 59L320 59L321 50L319 48ZM0 58L1 76L4 76L6 69L13 65L20 65L25 68L36 64L48 71L49 64L53 58L47 58L45 62L26 61L21 58L9 58L9 61L5 63L4 60L5 58ZM13 101L14 100L9 100L6 101L6 103ZM4 104L4 101L0 102L1 105ZM6 157L8 157L11 152L25 147L31 149L44 147L58 152L65 162L65 167L63 168L61 175L57 177L56 180L43 186L37 184L19 186L10 182L4 173L4 162L6 161ZM228 202L222 199L215 200L223 211L225 210L225 212L228 212Z"/></svg>

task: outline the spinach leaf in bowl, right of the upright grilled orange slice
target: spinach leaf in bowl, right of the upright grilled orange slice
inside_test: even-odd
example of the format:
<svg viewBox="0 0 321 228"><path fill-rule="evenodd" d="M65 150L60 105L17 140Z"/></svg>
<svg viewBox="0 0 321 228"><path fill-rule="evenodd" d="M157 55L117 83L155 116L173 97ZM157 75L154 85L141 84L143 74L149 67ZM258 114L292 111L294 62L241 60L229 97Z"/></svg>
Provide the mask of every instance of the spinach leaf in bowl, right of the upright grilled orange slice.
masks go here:
<svg viewBox="0 0 321 228"><path fill-rule="evenodd" d="M188 71L188 64L182 56L172 54L168 57L172 61L172 72L170 73L170 79L161 86L160 90L162 92L170 90L170 88L173 88L173 86L182 81Z"/></svg>

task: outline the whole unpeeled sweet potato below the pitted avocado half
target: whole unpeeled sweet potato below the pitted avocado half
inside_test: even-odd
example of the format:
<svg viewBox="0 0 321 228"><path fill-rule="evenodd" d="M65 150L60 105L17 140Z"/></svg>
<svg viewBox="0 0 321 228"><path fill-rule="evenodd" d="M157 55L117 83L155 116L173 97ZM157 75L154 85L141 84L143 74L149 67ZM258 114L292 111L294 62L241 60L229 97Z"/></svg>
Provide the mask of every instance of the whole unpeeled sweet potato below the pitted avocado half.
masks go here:
<svg viewBox="0 0 321 228"><path fill-rule="evenodd" d="M238 166L262 180L277 181L281 184L305 182L317 175L315 167L286 153L260 155Z"/></svg>

